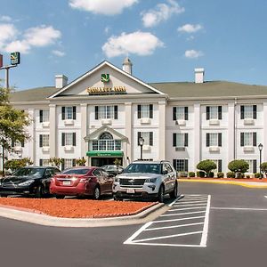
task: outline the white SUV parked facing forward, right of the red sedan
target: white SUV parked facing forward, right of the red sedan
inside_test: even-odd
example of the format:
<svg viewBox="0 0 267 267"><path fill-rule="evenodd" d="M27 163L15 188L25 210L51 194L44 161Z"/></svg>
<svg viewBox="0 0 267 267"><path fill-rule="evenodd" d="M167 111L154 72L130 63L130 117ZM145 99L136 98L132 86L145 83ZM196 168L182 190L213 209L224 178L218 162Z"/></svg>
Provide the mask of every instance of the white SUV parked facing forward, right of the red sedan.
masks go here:
<svg viewBox="0 0 267 267"><path fill-rule="evenodd" d="M178 195L176 171L168 161L134 161L114 179L113 198L156 198Z"/></svg>

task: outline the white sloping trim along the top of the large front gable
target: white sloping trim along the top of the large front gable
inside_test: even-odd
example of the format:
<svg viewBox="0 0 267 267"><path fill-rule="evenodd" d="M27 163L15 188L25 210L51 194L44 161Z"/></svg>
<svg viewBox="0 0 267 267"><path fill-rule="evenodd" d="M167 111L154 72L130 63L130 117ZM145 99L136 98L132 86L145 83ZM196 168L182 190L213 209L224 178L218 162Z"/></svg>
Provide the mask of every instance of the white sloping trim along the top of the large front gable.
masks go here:
<svg viewBox="0 0 267 267"><path fill-rule="evenodd" d="M77 85L77 83L79 83L80 81L82 81L83 79L85 79L86 77L89 77L91 75L93 75L94 72L96 72L97 70L101 69L102 67L104 66L109 66L109 68L111 69L115 69L117 70L118 72L120 72L121 74L125 75L125 77L128 77L130 79L133 79L135 82L149 88L150 90L152 90L153 92L155 93L159 93L159 94L165 94L165 93L162 93L160 92L158 89L154 88L153 86L151 85L148 85L144 82L142 82L142 80L138 79L137 77L134 77L132 75L130 75L129 73L125 72L124 70L122 69L119 69L117 68L116 66L114 66L113 64L109 63L109 61L102 61L99 65L97 65L96 67L94 67L93 69L89 70L88 72L86 72L84 75L80 76L80 77L77 77L77 79L75 79L74 81L72 81L71 83L69 83L69 85L66 85L64 86L63 88L61 88L61 90L59 90L58 92L56 93L53 93L49 99L52 99L56 96L58 96L59 94L63 93L64 91L66 91L67 89L69 89L69 87L72 87L74 85Z"/></svg>

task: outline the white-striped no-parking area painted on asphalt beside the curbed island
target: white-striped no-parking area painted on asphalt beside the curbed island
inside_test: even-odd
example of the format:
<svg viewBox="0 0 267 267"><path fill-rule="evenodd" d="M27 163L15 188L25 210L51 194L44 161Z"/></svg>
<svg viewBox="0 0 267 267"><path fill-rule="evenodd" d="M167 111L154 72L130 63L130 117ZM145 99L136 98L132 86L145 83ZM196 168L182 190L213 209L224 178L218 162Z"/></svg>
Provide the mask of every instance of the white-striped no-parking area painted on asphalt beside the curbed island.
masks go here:
<svg viewBox="0 0 267 267"><path fill-rule="evenodd" d="M206 247L209 195L186 195L176 199L157 220L136 231L126 245Z"/></svg>

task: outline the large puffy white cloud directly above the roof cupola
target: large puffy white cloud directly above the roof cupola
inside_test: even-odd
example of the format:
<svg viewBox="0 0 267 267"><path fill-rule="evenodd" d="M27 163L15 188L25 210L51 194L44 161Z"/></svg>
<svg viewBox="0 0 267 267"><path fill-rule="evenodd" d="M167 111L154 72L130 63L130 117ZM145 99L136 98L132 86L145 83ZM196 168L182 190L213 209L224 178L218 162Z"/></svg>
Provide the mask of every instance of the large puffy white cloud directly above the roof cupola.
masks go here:
<svg viewBox="0 0 267 267"><path fill-rule="evenodd" d="M129 53L145 56L152 54L156 48L163 45L157 36L149 32L136 31L109 37L108 42L102 46L102 51L109 58Z"/></svg>

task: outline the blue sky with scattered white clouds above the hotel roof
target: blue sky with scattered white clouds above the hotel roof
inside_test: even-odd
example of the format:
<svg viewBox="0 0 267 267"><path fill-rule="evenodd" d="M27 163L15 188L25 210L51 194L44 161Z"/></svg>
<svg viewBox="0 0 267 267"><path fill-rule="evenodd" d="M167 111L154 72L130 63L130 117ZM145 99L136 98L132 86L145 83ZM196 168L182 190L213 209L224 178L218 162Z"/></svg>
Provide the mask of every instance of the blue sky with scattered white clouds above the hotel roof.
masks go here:
<svg viewBox="0 0 267 267"><path fill-rule="evenodd" d="M266 12L266 0L0 0L0 53L9 65L20 52L16 90L126 56L146 83L192 82L204 68L206 81L267 85Z"/></svg>

